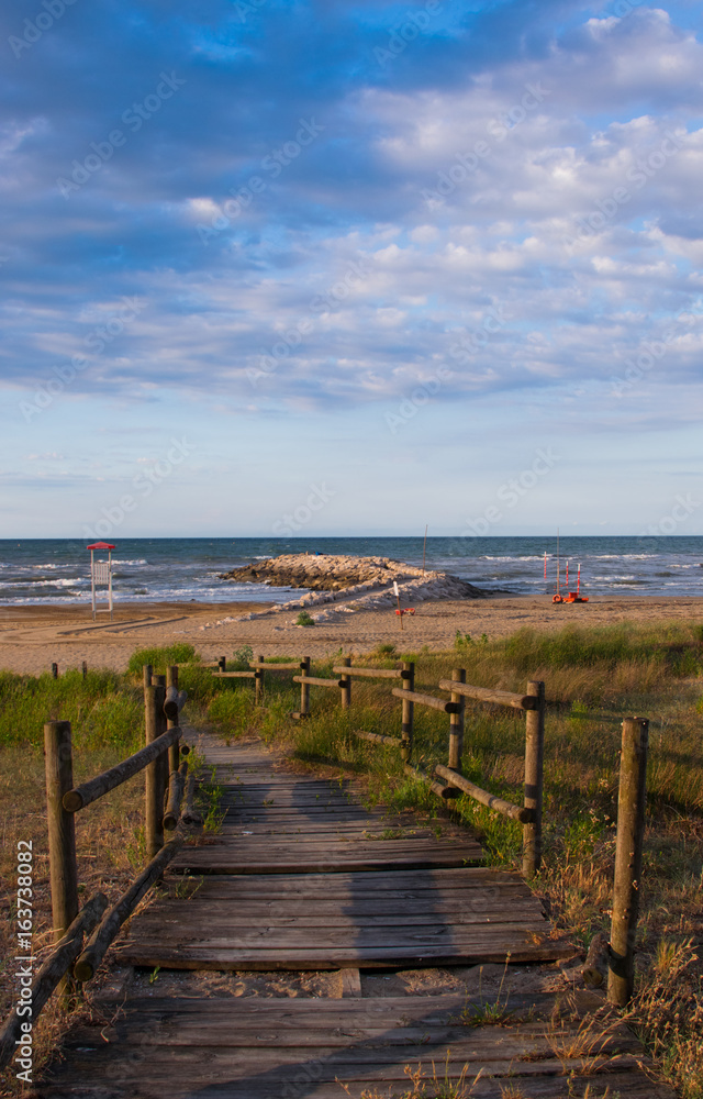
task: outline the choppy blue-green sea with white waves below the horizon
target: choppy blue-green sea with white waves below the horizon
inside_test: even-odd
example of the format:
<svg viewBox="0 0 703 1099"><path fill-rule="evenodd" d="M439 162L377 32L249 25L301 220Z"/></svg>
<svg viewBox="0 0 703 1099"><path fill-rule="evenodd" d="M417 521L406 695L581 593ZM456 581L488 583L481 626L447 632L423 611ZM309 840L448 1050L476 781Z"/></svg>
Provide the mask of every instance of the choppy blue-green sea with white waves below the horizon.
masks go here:
<svg viewBox="0 0 703 1099"><path fill-rule="evenodd" d="M217 579L237 565L281 553L384 556L422 565L422 537L120 539L113 551L115 600L271 601L288 588ZM703 596L703 537L562 537L561 581L581 564L583 595ZM547 579L544 554L547 553ZM486 590L555 590L556 537L428 537L427 568L445 569ZM98 555L99 556L99 555ZM303 592L298 589L298 595ZM289 596L289 598L292 598ZM70 539L0 541L0 603L90 600L90 553Z"/></svg>

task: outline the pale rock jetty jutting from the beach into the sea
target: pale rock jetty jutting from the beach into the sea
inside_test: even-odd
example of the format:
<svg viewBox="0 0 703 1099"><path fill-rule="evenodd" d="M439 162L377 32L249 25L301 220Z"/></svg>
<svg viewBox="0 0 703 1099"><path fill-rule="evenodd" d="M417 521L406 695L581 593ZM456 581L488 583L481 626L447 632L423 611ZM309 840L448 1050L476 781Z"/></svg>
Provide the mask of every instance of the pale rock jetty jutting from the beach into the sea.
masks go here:
<svg viewBox="0 0 703 1099"><path fill-rule="evenodd" d="M321 611L313 615L316 622L328 620L339 612L394 607L393 581L398 584L401 602L405 607L427 599L483 599L488 596L488 592L450 573L423 573L422 568L390 557L354 557L346 554L282 554L233 568L222 574L220 579L306 588L306 593L300 599L277 603L270 610L253 612L246 618L334 603L326 609L321 607Z"/></svg>

